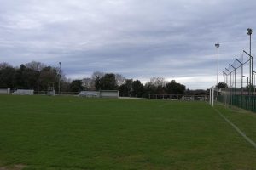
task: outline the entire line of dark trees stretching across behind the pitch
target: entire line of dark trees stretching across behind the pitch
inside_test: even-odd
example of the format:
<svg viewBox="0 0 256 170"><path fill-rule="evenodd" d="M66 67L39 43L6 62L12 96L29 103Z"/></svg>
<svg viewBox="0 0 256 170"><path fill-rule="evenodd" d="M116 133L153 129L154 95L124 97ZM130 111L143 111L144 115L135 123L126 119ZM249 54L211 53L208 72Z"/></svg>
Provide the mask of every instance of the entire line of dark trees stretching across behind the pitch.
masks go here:
<svg viewBox="0 0 256 170"><path fill-rule="evenodd" d="M163 77L152 77L143 84L140 80L126 79L121 74L95 71L91 77L67 79L59 68L32 61L13 67L0 63L0 88L34 89L46 91L49 83L61 83L61 92L79 92L82 90L119 90L120 94L193 94L195 91Z"/></svg>

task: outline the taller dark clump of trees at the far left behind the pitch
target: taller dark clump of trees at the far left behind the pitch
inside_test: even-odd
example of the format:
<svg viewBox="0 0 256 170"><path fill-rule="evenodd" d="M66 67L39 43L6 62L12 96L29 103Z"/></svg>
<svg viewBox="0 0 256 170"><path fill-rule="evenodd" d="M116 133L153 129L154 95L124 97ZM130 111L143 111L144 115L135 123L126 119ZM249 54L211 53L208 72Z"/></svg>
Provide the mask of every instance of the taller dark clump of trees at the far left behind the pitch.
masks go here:
<svg viewBox="0 0 256 170"><path fill-rule="evenodd" d="M37 62L14 68L6 63L0 64L0 88L23 88L35 91L47 90L49 82L57 82L55 68Z"/></svg>

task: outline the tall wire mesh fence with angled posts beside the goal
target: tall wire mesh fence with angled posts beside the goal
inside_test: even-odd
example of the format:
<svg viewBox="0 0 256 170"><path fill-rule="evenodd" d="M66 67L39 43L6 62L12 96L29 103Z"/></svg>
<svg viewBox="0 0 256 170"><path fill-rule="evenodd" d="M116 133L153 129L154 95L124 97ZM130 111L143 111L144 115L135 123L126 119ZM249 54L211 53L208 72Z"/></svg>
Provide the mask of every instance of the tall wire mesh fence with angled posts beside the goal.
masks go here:
<svg viewBox="0 0 256 170"><path fill-rule="evenodd" d="M255 80L253 80L253 56L246 51L234 59L223 71L224 83L227 85L218 96L218 101L226 105L236 105L243 109L255 111Z"/></svg>

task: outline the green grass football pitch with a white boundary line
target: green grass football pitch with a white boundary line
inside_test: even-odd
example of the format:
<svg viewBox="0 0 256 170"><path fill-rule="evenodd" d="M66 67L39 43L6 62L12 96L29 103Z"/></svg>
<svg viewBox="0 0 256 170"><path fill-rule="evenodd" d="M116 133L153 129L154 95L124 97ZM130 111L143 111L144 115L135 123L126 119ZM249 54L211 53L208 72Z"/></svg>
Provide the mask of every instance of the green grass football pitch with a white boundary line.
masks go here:
<svg viewBox="0 0 256 170"><path fill-rule="evenodd" d="M256 115L218 111L256 141ZM256 169L205 102L0 95L0 169Z"/></svg>

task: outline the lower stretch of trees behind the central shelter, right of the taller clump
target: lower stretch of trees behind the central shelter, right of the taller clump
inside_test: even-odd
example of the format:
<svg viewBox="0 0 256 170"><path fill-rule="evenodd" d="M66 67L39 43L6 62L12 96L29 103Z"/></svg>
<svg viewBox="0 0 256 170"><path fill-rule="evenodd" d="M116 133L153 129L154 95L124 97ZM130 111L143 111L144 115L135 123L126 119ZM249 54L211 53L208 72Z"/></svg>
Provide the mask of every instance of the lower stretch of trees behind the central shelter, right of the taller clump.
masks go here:
<svg viewBox="0 0 256 170"><path fill-rule="evenodd" d="M185 94L186 91L183 84L175 80L167 82L163 77L152 77L143 85L140 80L125 79L120 74L99 71L94 72L91 77L76 80L76 87L76 91L119 90L120 94Z"/></svg>

